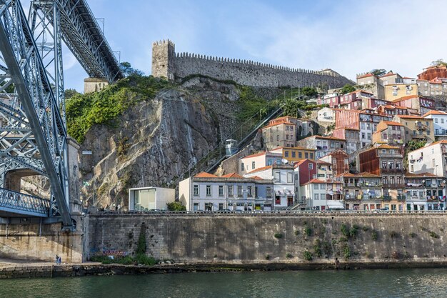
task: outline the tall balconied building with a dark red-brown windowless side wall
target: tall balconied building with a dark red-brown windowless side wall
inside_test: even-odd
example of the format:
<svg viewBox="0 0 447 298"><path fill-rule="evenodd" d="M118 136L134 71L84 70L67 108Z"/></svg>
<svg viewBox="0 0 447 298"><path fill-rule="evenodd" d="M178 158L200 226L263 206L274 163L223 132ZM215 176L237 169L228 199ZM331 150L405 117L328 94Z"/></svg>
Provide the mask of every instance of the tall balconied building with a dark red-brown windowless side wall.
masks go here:
<svg viewBox="0 0 447 298"><path fill-rule="evenodd" d="M390 210L403 210L403 154L401 148L382 144L358 154L360 172L382 177L383 204Z"/></svg>

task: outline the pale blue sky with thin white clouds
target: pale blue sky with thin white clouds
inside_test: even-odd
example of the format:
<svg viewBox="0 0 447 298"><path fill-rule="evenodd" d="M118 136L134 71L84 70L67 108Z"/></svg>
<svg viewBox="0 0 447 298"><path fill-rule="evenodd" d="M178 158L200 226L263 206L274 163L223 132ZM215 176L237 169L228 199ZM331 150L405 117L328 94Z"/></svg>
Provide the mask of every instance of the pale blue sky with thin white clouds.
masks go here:
<svg viewBox="0 0 447 298"><path fill-rule="evenodd" d="M28 0L22 0L27 11ZM151 44L176 52L356 74L386 69L416 77L447 61L447 1L87 0L121 61L151 74ZM102 24L101 24L102 26ZM86 72L65 49L66 89L83 91Z"/></svg>

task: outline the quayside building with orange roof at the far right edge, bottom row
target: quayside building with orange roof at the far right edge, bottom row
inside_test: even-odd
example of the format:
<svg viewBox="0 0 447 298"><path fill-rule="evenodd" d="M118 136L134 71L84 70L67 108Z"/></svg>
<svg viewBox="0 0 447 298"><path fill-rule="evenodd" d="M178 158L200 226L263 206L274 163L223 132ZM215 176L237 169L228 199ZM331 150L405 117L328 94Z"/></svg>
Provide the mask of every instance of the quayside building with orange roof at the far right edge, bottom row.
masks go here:
<svg viewBox="0 0 447 298"><path fill-rule="evenodd" d="M406 210L443 210L446 180L431 173L406 173Z"/></svg>

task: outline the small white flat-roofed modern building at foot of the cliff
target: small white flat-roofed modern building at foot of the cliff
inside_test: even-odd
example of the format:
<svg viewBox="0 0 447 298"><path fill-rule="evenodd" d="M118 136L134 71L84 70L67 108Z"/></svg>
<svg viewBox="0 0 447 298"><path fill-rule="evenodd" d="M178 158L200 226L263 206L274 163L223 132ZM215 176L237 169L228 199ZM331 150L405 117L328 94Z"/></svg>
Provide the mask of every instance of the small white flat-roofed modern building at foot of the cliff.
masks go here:
<svg viewBox="0 0 447 298"><path fill-rule="evenodd" d="M129 211L167 210L176 199L176 190L163 187L129 189Z"/></svg>

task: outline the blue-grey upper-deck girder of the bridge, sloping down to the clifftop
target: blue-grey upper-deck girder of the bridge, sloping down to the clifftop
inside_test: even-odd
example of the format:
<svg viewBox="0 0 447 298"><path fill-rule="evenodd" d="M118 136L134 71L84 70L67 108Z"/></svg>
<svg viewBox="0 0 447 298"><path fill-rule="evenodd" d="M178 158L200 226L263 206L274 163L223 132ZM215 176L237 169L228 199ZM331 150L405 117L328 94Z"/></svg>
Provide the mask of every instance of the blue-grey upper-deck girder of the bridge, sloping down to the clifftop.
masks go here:
<svg viewBox="0 0 447 298"><path fill-rule="evenodd" d="M59 9L59 20L51 19L54 5ZM109 82L121 79L119 63L99 28L93 13L84 0L32 1L54 24L59 23L62 39L73 52L89 76L105 78Z"/></svg>

